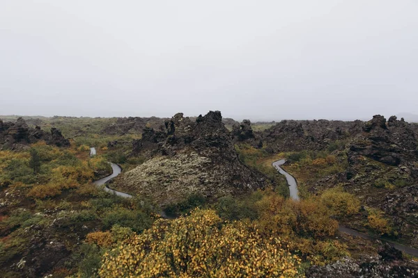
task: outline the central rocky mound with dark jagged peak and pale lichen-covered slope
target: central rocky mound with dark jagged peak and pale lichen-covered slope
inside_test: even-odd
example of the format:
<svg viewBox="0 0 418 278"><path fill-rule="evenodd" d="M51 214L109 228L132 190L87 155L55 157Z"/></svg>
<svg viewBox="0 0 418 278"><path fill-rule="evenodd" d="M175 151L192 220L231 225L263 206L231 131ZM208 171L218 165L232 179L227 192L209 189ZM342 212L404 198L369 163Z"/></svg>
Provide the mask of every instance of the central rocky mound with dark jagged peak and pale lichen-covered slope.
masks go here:
<svg viewBox="0 0 418 278"><path fill-rule="evenodd" d="M164 126L164 132L144 129L141 140L134 142L132 154L146 154L150 160L123 174L118 189L164 205L192 193L217 199L265 186L263 174L239 161L219 111L196 120L178 113Z"/></svg>

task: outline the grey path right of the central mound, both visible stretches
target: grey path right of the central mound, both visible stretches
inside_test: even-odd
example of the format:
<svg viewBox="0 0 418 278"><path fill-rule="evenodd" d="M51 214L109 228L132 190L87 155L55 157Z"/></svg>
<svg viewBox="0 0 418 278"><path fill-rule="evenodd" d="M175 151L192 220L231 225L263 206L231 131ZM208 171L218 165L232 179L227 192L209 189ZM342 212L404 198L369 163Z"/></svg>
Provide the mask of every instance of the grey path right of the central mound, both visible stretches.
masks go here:
<svg viewBox="0 0 418 278"><path fill-rule="evenodd" d="M284 163L286 163L286 159L281 159L279 161L274 161L272 163L272 165L273 165L274 168L276 168L279 171L280 174L283 174L286 177L286 180L287 180L288 185L289 185L289 189L291 191L291 198L298 201L298 200L300 200L300 197L299 197L298 192L297 192L296 179L291 174L289 174L288 172L283 170L282 167L280 167ZM399 243L394 243L393 241L387 240L386 238L380 238L380 237L376 237L376 236L370 236L368 234L363 234L363 233L360 233L359 231L356 231L355 229L350 229L350 228L345 227L343 225L339 225L338 230L341 233L346 233L346 234L349 234L350 236L358 236L360 238L364 238L364 239L367 239L367 240L383 241L383 242L391 245L392 247L395 247L397 250L401 250L402 252L405 252L405 254L418 257L418 249L408 247L408 246L405 246L405 245L401 245Z"/></svg>

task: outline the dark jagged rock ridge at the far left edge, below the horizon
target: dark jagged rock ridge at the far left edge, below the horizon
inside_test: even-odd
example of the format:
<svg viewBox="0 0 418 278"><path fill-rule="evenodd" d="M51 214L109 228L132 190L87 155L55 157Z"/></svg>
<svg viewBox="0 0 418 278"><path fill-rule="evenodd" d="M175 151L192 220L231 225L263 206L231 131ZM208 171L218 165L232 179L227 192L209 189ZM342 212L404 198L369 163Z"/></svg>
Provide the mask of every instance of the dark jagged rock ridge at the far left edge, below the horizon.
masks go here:
<svg viewBox="0 0 418 278"><path fill-rule="evenodd" d="M0 120L0 149L18 149L39 140L45 140L48 145L58 147L70 146L70 141L65 139L58 129L52 128L51 133L42 131L40 126L33 129L22 117L18 118L15 123Z"/></svg>

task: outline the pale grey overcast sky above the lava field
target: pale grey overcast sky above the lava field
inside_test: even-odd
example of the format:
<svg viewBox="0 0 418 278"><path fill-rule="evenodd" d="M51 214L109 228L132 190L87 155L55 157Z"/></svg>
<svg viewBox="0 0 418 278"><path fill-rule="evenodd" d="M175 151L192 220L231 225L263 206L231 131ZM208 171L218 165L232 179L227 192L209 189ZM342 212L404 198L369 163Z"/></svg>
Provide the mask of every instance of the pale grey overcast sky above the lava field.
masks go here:
<svg viewBox="0 0 418 278"><path fill-rule="evenodd" d="M418 113L418 1L0 0L0 115Z"/></svg>

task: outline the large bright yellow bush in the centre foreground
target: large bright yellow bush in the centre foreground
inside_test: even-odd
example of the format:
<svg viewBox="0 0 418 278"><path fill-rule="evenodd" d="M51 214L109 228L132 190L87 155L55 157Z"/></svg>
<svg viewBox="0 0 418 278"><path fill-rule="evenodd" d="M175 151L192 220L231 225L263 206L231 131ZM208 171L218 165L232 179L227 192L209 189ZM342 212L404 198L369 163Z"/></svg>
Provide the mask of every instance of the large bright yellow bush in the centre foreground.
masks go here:
<svg viewBox="0 0 418 278"><path fill-rule="evenodd" d="M253 225L226 223L211 210L157 220L104 254L100 277L300 277L300 259Z"/></svg>

